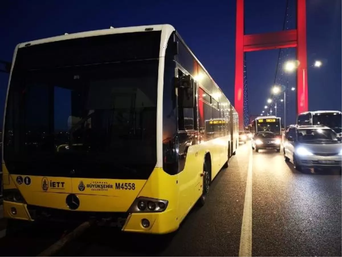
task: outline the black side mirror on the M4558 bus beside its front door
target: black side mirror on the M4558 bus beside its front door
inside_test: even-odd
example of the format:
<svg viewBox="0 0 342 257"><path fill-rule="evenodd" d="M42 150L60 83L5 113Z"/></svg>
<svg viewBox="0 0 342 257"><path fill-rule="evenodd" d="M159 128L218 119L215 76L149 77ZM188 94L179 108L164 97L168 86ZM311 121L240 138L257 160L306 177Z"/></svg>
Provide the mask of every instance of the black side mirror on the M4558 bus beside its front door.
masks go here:
<svg viewBox="0 0 342 257"><path fill-rule="evenodd" d="M190 75L183 75L175 78L175 88L178 88L178 107L195 107L195 87L194 80Z"/></svg>

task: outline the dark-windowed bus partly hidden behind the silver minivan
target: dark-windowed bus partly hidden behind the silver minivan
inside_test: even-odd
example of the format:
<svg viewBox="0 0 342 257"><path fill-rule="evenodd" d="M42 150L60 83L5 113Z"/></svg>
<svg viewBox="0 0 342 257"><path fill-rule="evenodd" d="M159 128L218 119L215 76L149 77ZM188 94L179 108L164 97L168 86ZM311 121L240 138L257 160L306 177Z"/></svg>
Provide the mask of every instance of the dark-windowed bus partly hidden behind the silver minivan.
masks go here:
<svg viewBox="0 0 342 257"><path fill-rule="evenodd" d="M342 136L342 112L340 111L311 111L302 112L297 117L298 125L324 125L330 127Z"/></svg>

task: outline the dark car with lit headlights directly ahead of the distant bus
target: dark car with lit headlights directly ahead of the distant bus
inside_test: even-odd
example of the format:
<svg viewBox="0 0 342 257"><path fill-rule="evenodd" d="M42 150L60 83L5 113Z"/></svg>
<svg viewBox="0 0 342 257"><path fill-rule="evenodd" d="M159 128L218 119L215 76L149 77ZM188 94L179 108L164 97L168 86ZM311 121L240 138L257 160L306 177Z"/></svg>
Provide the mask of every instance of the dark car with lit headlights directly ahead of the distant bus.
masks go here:
<svg viewBox="0 0 342 257"><path fill-rule="evenodd" d="M258 132L252 138L252 149L259 150L277 150L280 152L281 140L272 132Z"/></svg>

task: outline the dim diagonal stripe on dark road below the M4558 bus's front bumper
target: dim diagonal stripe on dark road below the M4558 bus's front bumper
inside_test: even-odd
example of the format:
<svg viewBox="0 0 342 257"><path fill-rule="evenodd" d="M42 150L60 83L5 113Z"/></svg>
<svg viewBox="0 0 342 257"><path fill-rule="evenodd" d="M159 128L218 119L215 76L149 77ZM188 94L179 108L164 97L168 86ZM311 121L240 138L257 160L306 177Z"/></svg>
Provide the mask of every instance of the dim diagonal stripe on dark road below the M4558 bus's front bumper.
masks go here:
<svg viewBox="0 0 342 257"><path fill-rule="evenodd" d="M52 256L58 250L62 249L62 247L69 241L75 239L80 234L82 234L85 230L87 230L91 226L91 221L83 222L81 225L79 225L76 229L71 231L69 234L64 236L61 240L58 240L56 243L51 245L49 248L45 249L43 252L37 255L37 257L48 257Z"/></svg>

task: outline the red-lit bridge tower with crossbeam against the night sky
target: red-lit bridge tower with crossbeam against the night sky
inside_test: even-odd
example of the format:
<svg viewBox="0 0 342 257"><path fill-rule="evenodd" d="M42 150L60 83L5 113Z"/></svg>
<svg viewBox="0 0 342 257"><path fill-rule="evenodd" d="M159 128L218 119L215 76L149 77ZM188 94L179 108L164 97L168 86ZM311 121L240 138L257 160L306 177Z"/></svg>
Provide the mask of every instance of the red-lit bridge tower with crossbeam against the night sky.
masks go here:
<svg viewBox="0 0 342 257"><path fill-rule="evenodd" d="M244 0L236 1L235 109L239 113L239 129L244 127L244 52L297 48L297 114L308 110L306 0L297 0L297 28L279 32L245 35Z"/></svg>

